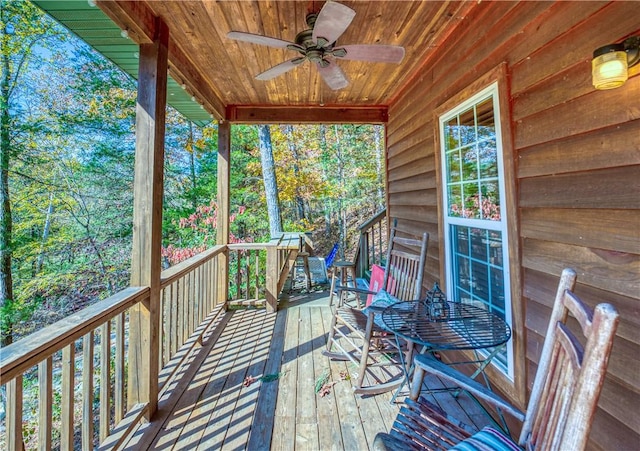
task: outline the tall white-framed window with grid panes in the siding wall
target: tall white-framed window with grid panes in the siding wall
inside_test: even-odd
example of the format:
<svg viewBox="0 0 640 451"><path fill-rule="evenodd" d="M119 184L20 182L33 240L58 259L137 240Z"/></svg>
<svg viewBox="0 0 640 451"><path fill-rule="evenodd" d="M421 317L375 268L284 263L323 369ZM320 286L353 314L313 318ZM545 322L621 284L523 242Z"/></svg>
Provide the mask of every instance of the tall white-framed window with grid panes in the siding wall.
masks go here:
<svg viewBox="0 0 640 451"><path fill-rule="evenodd" d="M512 326L498 83L440 116L446 292ZM493 363L513 380L513 344Z"/></svg>

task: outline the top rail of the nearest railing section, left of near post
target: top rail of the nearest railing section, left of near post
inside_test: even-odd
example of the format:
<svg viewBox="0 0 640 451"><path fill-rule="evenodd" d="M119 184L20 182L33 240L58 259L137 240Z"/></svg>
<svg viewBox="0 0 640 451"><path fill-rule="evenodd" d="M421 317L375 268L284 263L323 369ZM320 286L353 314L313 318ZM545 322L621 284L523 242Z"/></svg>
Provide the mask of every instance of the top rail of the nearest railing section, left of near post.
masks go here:
<svg viewBox="0 0 640 451"><path fill-rule="evenodd" d="M124 312L149 295L148 287L129 287L40 329L2 349L0 376L8 382L69 343Z"/></svg>

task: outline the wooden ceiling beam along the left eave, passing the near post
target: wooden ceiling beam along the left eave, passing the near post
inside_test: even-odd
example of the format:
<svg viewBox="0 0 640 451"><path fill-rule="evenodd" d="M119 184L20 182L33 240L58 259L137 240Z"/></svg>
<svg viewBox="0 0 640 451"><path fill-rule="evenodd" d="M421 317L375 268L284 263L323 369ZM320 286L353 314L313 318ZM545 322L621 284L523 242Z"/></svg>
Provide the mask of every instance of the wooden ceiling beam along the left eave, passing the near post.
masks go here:
<svg viewBox="0 0 640 451"><path fill-rule="evenodd" d="M104 13L121 29L126 30L132 41L149 44L156 35L156 16L142 1L101 0L97 2ZM184 84L204 108L217 120L224 119L225 105L221 97L205 81L188 56L169 37L169 73L178 84Z"/></svg>

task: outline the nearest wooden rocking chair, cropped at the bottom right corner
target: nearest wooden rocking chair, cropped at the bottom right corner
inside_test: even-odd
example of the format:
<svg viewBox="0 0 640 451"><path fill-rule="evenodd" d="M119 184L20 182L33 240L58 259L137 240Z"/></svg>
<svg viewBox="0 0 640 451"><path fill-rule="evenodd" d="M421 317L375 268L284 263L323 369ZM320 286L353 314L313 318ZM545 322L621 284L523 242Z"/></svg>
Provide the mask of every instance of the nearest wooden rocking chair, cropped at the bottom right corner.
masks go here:
<svg viewBox="0 0 640 451"><path fill-rule="evenodd" d="M428 371L524 421L519 446L527 450L583 450L607 370L618 313L609 304L591 310L571 291L575 281L573 270L562 272L526 413L444 363L419 355L412 399L400 410L391 433L376 436L374 449L519 449L501 431L485 428L472 435L423 397L416 401L424 371ZM586 337L584 348L566 326L569 313ZM460 448L456 448L460 441Z"/></svg>

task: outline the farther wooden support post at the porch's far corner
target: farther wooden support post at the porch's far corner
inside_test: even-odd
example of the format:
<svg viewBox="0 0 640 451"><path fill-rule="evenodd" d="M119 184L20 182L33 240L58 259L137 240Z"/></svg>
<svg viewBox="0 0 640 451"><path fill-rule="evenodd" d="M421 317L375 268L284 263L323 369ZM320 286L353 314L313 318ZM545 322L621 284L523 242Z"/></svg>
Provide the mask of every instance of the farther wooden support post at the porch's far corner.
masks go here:
<svg viewBox="0 0 640 451"><path fill-rule="evenodd" d="M231 179L231 123L218 124L218 228L216 244L229 244L229 191ZM218 256L216 304L229 298L229 250Z"/></svg>

